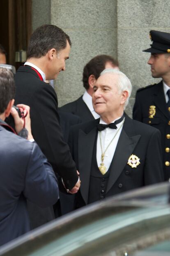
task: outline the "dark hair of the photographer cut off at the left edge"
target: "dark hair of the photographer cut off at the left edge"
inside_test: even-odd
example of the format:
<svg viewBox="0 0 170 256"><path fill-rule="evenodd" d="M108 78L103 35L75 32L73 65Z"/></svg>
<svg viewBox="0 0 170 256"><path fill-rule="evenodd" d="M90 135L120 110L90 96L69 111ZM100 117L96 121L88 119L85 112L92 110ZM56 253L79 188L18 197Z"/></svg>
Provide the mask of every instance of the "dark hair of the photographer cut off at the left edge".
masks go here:
<svg viewBox="0 0 170 256"><path fill-rule="evenodd" d="M7 68L0 68L0 114L4 113L8 103L15 97L14 75Z"/></svg>

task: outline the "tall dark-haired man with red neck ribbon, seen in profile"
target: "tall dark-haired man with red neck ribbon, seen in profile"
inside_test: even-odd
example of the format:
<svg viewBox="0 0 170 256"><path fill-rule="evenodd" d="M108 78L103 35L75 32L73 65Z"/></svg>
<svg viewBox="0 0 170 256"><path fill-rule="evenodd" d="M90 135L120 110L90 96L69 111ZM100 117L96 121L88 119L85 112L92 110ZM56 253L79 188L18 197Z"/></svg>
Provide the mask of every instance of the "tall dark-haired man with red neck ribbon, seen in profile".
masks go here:
<svg viewBox="0 0 170 256"><path fill-rule="evenodd" d="M43 25L37 28L30 38L27 62L15 75L15 100L16 103L30 106L35 141L51 163L55 174L62 177L67 191L76 193L80 180L60 128L57 95L53 87L45 82L56 79L60 71L65 70L70 47L69 36L57 26ZM51 219L44 217L43 223Z"/></svg>

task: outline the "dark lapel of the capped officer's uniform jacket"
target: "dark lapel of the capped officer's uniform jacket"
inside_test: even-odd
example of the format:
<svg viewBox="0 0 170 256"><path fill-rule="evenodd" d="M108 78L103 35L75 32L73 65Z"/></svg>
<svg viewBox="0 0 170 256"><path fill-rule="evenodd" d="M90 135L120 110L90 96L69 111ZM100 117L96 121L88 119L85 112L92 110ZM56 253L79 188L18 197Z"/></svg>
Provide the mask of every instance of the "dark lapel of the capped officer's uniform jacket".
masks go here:
<svg viewBox="0 0 170 256"><path fill-rule="evenodd" d="M159 110L169 119L169 113L166 107L165 94L163 91L163 82L157 85L157 91L154 93L154 103Z"/></svg>

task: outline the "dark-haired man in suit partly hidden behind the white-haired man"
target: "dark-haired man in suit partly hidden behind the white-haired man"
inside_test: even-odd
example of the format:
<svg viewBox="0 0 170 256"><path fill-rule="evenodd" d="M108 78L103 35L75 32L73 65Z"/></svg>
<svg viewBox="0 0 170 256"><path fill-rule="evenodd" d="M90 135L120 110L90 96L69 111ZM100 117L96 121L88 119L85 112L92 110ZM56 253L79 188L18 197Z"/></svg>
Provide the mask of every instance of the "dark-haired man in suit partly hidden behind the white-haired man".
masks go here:
<svg viewBox="0 0 170 256"><path fill-rule="evenodd" d="M92 105L93 86L105 68L118 68L118 61L108 55L98 55L91 59L83 70L83 86L85 93L76 101L68 103L60 110L78 115L82 122L99 118Z"/></svg>

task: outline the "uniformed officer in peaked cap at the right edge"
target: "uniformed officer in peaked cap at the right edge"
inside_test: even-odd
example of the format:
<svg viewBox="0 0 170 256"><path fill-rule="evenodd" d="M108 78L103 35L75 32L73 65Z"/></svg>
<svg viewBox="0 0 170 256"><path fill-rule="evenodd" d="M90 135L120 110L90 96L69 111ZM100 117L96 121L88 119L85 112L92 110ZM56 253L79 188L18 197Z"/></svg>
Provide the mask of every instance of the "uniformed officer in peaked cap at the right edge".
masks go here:
<svg viewBox="0 0 170 256"><path fill-rule="evenodd" d="M133 119L149 124L161 132L164 178L170 178L170 33L150 31L153 41L147 62L153 78L161 82L138 89Z"/></svg>

